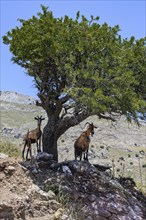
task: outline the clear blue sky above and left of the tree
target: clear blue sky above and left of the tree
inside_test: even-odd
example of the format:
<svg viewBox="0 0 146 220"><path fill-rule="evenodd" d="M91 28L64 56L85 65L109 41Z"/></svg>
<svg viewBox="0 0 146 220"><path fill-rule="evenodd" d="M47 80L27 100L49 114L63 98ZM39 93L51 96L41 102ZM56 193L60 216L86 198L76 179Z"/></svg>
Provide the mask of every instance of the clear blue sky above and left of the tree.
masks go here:
<svg viewBox="0 0 146 220"><path fill-rule="evenodd" d="M19 26L18 18L29 19L41 11L40 5L49 6L55 17L68 15L76 17L76 12L90 18L99 16L99 23L110 26L119 25L122 38L135 36L136 39L146 36L146 0L1 0L1 50L0 50L0 90L15 91L37 97L33 78L26 75L25 69L11 62L9 46L4 45L2 36Z"/></svg>

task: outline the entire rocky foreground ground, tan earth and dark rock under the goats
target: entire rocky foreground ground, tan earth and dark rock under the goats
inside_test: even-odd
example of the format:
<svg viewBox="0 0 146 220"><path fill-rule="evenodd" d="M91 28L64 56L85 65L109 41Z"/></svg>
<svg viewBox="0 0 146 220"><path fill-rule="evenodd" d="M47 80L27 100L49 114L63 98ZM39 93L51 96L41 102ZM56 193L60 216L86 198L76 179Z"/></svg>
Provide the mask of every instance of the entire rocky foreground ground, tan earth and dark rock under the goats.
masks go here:
<svg viewBox="0 0 146 220"><path fill-rule="evenodd" d="M146 219L146 197L132 178L113 178L106 166L51 158L44 153L33 163L1 158L0 219Z"/></svg>

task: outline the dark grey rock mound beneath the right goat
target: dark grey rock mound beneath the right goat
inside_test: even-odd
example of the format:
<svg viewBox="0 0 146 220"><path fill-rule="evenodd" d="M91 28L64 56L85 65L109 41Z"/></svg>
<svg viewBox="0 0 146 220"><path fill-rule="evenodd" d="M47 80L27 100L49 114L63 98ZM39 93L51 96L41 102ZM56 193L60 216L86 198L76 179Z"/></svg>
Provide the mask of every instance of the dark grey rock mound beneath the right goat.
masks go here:
<svg viewBox="0 0 146 220"><path fill-rule="evenodd" d="M132 179L118 180L100 172L88 162L68 161L57 169L55 178L45 182L45 188L54 183L78 210L78 219L87 220L142 220L146 218L146 197L137 191Z"/></svg>

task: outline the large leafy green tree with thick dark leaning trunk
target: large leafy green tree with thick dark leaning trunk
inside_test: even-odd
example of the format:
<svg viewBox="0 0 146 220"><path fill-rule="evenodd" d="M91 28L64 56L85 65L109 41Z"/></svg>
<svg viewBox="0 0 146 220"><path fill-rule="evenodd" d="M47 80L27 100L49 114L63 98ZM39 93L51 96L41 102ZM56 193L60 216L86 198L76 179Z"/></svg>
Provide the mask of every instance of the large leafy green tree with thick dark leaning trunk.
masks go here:
<svg viewBox="0 0 146 220"><path fill-rule="evenodd" d="M90 115L136 119L146 110L146 39L122 39L119 26L98 24L77 12L76 19L55 18L48 8L19 19L3 36L12 61L34 78L48 116L43 150L58 160L57 140ZM130 117L128 117L130 115Z"/></svg>

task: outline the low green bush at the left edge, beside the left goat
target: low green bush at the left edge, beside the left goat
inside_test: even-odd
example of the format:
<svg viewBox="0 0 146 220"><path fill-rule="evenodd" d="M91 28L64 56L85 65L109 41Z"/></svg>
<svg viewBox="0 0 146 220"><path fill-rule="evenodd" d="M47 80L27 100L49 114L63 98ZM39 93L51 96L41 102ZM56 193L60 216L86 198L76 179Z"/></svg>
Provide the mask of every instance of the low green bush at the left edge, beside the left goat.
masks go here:
<svg viewBox="0 0 146 220"><path fill-rule="evenodd" d="M4 153L9 157L15 157L15 158L21 156L20 149L10 141L0 142L0 153Z"/></svg>

